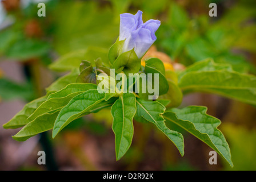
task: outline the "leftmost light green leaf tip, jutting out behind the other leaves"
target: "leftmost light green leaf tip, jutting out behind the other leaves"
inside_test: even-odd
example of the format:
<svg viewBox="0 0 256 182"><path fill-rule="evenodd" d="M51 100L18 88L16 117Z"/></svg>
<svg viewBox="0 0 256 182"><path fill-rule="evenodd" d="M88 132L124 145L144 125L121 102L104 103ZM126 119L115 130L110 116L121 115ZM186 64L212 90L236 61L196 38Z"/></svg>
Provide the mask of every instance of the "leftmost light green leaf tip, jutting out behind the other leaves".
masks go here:
<svg viewBox="0 0 256 182"><path fill-rule="evenodd" d="M3 125L5 129L17 129L18 127L25 126L30 121L27 119L39 105L46 100L46 96L38 98L26 104L21 111L19 111L9 122Z"/></svg>

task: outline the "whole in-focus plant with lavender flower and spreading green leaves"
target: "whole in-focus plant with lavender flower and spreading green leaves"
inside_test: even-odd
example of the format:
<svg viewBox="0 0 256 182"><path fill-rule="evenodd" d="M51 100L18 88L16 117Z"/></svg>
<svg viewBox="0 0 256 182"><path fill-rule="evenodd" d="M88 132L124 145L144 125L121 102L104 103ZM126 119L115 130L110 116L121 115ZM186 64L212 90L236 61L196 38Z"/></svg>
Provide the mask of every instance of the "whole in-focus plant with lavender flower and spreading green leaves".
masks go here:
<svg viewBox="0 0 256 182"><path fill-rule="evenodd" d="M50 65L54 71L69 71L46 88L46 96L26 104L3 127L23 127L13 139L24 141L47 130L52 137L75 119L109 107L113 116L117 160L126 154L134 134L134 122L149 122L162 131L184 155L178 125L213 148L233 167L229 144L217 127L219 119L205 106L179 107L191 92L207 92L256 105L256 77L233 71L231 65L212 59L198 61L182 71L165 69L157 57L147 57L155 42L159 20L143 23L142 11L120 15L120 32L109 50L81 49Z"/></svg>

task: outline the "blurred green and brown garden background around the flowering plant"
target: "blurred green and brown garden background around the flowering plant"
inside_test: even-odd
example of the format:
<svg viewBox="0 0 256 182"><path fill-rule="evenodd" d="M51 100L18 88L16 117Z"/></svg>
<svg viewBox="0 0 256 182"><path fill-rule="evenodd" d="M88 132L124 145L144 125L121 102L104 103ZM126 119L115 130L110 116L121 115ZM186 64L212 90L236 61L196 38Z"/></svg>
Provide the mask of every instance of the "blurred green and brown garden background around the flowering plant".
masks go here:
<svg viewBox="0 0 256 182"><path fill-rule="evenodd" d="M46 16L38 17L39 2ZM217 4L217 17L209 4ZM203 105L221 119L219 129L230 145L234 168L218 156L209 164L211 148L189 133L185 155L154 126L134 121L130 150L115 161L112 117L108 110L72 122L54 140L51 132L26 142L5 130L23 106L45 94L64 73L48 65L66 53L91 46L109 48L119 36L119 14L143 11L143 20L159 19L155 46L177 69L207 57L231 64L242 73L256 73L255 0L2 0L0 2L0 170L255 170L256 108L204 93L183 98L182 105ZM175 68L175 66L174 66ZM46 165L37 152L46 152Z"/></svg>

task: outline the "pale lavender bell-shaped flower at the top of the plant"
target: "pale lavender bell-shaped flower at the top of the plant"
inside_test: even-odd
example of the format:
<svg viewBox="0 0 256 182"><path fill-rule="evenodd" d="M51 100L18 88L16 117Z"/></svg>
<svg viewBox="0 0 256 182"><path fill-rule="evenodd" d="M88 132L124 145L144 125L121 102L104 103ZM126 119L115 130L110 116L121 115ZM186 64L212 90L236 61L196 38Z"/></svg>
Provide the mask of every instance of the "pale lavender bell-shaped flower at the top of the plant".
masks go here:
<svg viewBox="0 0 256 182"><path fill-rule="evenodd" d="M141 58L157 40L155 31L160 26L159 20L150 19L143 23L142 11L133 15L124 13L120 15L120 32L119 40L125 40L122 52L134 51L138 58Z"/></svg>

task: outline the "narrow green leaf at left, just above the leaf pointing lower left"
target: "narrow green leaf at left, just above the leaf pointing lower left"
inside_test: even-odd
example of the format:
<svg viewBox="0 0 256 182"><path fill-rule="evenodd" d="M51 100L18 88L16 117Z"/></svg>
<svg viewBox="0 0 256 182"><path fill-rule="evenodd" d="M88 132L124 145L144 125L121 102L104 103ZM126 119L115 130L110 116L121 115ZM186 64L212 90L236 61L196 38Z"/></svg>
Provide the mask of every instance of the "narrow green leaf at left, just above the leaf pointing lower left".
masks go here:
<svg viewBox="0 0 256 182"><path fill-rule="evenodd" d="M39 115L43 115L56 110L61 110L66 106L71 98L81 94L90 89L97 89L97 85L94 84L70 84L62 90L50 94L45 102L43 102L28 119L33 120Z"/></svg>

